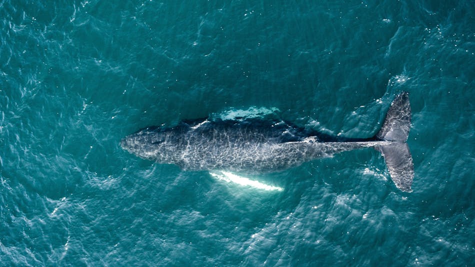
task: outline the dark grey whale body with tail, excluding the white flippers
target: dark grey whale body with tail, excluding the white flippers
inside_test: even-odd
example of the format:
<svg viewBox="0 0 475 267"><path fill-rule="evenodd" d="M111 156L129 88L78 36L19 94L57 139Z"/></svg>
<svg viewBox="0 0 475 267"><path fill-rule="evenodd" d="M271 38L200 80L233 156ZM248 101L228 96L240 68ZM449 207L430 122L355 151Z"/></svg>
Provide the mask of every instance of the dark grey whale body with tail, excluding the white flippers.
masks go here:
<svg viewBox="0 0 475 267"><path fill-rule="evenodd" d="M237 173L275 172L335 153L374 148L395 186L411 192L414 167L406 143L410 129L407 92L392 101L381 129L369 138L329 136L283 121L259 118L200 119L174 127L147 127L126 136L120 146L138 157L185 170Z"/></svg>

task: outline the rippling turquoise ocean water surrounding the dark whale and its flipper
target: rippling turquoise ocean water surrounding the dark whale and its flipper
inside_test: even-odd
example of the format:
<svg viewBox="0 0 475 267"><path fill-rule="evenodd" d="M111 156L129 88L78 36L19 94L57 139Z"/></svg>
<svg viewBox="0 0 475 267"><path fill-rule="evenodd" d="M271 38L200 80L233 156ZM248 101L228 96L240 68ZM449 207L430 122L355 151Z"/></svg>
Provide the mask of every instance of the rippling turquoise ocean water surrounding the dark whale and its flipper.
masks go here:
<svg viewBox="0 0 475 267"><path fill-rule="evenodd" d="M473 1L0 0L1 266L473 266ZM412 193L362 149L251 177L123 151L276 116L370 137L410 93Z"/></svg>

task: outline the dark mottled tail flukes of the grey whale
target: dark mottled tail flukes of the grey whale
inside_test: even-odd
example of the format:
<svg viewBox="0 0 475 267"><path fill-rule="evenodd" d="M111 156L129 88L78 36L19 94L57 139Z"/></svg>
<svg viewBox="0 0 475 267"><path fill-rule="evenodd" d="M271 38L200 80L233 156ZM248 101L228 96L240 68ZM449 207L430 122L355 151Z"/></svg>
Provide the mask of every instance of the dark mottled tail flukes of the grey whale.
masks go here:
<svg viewBox="0 0 475 267"><path fill-rule="evenodd" d="M390 141L386 145L376 146L386 162L387 170L398 189L411 192L410 186L414 178L414 165L407 145L410 130L409 93L402 92L392 101L381 129L375 138Z"/></svg>

